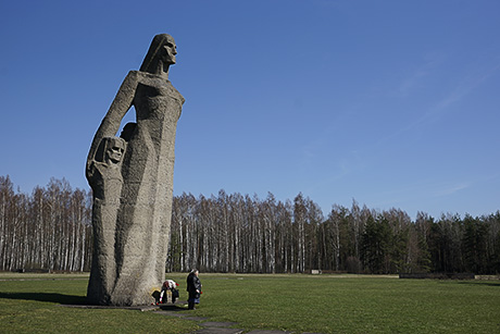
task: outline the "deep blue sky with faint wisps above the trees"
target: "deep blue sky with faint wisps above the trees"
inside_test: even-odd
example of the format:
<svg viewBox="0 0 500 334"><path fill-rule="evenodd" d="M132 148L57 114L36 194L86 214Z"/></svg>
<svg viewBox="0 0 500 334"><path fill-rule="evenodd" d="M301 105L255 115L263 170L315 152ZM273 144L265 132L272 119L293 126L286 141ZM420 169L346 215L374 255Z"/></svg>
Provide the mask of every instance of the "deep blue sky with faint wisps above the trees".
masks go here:
<svg viewBox="0 0 500 334"><path fill-rule="evenodd" d="M500 210L500 1L2 1L0 175L88 189L155 34L186 103L174 194L300 191L326 215ZM134 119L134 111L124 122Z"/></svg>

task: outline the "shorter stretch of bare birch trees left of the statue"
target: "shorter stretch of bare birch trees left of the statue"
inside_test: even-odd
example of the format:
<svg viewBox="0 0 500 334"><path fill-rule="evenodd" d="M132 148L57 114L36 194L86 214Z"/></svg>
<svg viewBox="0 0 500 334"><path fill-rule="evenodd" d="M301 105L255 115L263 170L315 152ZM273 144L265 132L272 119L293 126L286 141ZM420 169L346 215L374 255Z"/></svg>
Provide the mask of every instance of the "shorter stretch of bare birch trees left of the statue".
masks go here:
<svg viewBox="0 0 500 334"><path fill-rule="evenodd" d="M91 198L65 180L51 178L32 195L0 176L0 270L88 271Z"/></svg>

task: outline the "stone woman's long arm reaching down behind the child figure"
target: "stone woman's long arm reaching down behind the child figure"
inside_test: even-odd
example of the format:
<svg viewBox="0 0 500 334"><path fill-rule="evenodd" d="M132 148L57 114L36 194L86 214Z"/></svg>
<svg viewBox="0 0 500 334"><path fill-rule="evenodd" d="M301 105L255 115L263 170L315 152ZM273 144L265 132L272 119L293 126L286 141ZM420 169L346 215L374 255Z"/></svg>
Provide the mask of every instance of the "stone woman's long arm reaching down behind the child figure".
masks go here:
<svg viewBox="0 0 500 334"><path fill-rule="evenodd" d="M138 72L130 71L123 81L122 86L116 92L116 96L113 102L111 103L110 109L108 110L108 113L105 114L104 119L101 122L101 125L99 125L99 128L97 129L96 135L93 136L93 140L87 157L87 178L89 178L90 176L90 165L92 161L95 161L96 152L99 148L99 144L101 143L102 138L115 136L118 132L122 119L128 112L134 102L137 84Z"/></svg>

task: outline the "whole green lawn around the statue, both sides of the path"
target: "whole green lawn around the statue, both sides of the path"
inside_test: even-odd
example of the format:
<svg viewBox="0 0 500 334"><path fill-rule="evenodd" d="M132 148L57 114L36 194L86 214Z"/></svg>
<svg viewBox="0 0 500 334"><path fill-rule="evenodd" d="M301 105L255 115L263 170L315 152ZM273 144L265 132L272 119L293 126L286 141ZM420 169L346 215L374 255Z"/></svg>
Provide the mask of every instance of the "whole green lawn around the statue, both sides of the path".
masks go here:
<svg viewBox="0 0 500 334"><path fill-rule="evenodd" d="M180 283L186 274L167 274ZM240 329L296 333L500 333L500 282L364 275L200 274L201 304L183 310ZM88 275L0 274L1 333L189 333L195 321L78 309Z"/></svg>

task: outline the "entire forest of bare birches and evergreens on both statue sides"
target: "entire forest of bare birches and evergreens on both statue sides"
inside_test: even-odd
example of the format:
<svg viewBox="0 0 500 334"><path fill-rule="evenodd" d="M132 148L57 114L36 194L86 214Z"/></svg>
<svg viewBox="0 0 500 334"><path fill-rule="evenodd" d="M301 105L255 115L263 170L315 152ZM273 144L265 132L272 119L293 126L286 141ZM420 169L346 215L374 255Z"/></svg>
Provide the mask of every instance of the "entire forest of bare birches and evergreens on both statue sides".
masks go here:
<svg viewBox="0 0 500 334"><path fill-rule="evenodd" d="M32 195L0 176L0 270L89 271L91 194L52 178ZM489 215L377 211L309 197L175 196L166 271L238 273L500 273L500 211Z"/></svg>

